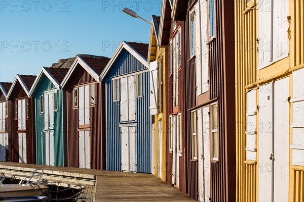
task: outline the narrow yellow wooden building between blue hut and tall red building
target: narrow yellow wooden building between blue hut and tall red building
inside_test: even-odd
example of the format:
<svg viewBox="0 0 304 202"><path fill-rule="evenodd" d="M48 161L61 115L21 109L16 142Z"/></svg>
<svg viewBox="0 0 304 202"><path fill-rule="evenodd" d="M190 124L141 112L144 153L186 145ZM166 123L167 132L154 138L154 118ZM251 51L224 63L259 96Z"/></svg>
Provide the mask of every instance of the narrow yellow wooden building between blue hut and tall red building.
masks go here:
<svg viewBox="0 0 304 202"><path fill-rule="evenodd" d="M151 171L154 175L166 181L166 58L165 48L159 46L160 17L152 16L148 63L150 68L150 114L151 122Z"/></svg>

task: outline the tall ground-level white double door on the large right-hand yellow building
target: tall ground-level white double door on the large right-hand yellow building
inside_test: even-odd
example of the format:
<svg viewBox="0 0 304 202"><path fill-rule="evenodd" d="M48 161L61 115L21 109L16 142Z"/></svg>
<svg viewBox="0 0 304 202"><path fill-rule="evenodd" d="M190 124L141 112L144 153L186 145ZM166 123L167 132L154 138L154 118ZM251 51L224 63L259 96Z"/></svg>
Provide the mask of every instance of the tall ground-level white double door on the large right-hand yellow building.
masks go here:
<svg viewBox="0 0 304 202"><path fill-rule="evenodd" d="M259 87L259 201L288 201L289 77Z"/></svg>

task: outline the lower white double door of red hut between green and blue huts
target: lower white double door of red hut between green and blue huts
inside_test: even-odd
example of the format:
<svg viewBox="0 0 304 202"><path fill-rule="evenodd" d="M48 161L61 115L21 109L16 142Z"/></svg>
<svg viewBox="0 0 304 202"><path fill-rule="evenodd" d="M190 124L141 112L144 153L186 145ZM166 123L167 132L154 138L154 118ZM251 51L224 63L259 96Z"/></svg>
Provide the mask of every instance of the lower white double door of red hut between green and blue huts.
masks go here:
<svg viewBox="0 0 304 202"><path fill-rule="evenodd" d="M90 131L79 131L79 167L91 168Z"/></svg>

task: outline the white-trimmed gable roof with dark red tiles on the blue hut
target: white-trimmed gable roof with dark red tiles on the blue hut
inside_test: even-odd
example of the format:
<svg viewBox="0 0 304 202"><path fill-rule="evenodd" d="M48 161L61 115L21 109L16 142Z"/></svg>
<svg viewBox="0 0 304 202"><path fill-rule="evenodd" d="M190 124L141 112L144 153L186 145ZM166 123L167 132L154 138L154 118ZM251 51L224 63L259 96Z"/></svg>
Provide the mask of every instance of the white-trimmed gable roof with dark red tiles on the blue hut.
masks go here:
<svg viewBox="0 0 304 202"><path fill-rule="evenodd" d="M147 63L148 58L148 47L149 44L147 43L136 43L136 42L126 42L122 41L119 47L116 49L116 52L114 53L113 57L110 59L108 64L106 65L104 71L100 75L100 80L102 80L113 63L116 61L119 54L122 52L123 49L126 49L130 54L132 54L139 62L141 62L144 66L149 68L149 65Z"/></svg>

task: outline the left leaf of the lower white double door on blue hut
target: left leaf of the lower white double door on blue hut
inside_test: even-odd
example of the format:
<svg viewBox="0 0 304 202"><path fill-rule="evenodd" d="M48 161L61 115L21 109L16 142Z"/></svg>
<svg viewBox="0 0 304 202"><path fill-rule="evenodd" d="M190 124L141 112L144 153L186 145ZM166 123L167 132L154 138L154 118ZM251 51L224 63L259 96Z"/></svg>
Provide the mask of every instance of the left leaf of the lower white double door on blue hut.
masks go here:
<svg viewBox="0 0 304 202"><path fill-rule="evenodd" d="M129 127L121 128L121 166L122 171L130 171L129 165Z"/></svg>

